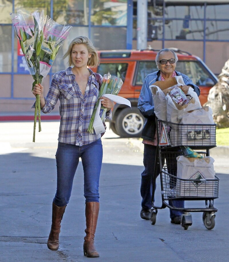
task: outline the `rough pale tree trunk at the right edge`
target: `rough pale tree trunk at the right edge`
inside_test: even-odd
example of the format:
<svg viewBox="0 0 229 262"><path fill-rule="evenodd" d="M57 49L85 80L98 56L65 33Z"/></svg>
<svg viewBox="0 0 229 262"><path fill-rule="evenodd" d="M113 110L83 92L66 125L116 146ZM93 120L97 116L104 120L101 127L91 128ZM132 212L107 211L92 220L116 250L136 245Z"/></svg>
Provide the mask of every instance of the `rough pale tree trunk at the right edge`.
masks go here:
<svg viewBox="0 0 229 262"><path fill-rule="evenodd" d="M229 127L229 59L222 68L218 82L210 89L205 105L212 108L218 128Z"/></svg>

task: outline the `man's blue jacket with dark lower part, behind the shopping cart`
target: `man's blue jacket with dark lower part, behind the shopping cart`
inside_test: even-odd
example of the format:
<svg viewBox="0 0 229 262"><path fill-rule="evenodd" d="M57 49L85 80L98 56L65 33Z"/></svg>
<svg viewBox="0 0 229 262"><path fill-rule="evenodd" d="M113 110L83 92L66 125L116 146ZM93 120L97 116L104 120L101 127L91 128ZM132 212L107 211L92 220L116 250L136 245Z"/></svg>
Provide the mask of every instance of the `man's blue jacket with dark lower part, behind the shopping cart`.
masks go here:
<svg viewBox="0 0 229 262"><path fill-rule="evenodd" d="M183 77L183 81L185 85L190 85L197 95L200 95L200 89L198 86L194 85L192 80L187 76L180 72L175 71L177 75L181 75ZM146 118L145 124L143 126L141 137L146 140L153 141L156 131L156 116L154 113L154 105L152 93L149 90L149 86L153 85L156 81L161 80L161 72L160 70L154 73L151 73L146 76L144 83L141 88L141 93L138 99L138 109L141 114Z"/></svg>

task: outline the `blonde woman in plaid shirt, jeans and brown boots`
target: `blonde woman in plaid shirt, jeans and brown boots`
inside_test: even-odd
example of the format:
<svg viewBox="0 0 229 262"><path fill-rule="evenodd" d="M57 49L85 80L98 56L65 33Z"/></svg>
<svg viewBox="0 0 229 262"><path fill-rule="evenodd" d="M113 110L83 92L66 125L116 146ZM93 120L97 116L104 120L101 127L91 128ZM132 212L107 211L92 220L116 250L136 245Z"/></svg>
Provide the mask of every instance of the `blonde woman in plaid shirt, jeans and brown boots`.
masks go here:
<svg viewBox="0 0 229 262"><path fill-rule="evenodd" d="M79 158L84 169L84 197L86 202L86 236L84 255L99 257L94 247L94 234L99 212L99 177L102 165L102 143L100 134L87 132L89 122L102 81L88 67L97 67L98 53L92 42L85 36L72 40L64 58L68 57L69 67L54 74L48 94L43 95L43 86L35 85L33 94L40 95L42 112L50 113L60 100L60 132L56 152L57 190L52 203L52 227L48 248L59 248L60 223L69 202L72 183ZM114 102L100 97L102 105L108 108L107 118Z"/></svg>

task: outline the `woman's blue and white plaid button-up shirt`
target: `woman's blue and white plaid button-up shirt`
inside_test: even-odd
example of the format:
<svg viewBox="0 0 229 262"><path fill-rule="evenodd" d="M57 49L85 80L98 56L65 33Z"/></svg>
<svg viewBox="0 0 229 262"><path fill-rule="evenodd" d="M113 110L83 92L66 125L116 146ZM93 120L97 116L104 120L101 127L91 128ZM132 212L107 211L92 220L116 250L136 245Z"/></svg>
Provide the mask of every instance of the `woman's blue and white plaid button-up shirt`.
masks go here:
<svg viewBox="0 0 229 262"><path fill-rule="evenodd" d="M87 132L99 90L95 74L92 70L88 70L91 75L88 77L84 95L80 91L71 67L53 76L42 112L50 113L60 99L59 142L82 146L101 137L101 134ZM106 118L111 119L111 111L107 113Z"/></svg>

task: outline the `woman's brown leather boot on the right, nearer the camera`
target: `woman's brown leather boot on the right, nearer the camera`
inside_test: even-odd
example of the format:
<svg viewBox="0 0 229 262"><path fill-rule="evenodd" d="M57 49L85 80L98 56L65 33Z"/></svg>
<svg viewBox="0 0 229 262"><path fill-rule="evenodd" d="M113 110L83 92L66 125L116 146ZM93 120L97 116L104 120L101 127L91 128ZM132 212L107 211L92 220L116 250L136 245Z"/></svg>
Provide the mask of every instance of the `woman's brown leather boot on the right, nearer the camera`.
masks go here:
<svg viewBox="0 0 229 262"><path fill-rule="evenodd" d="M84 256L87 257L99 257L99 254L94 246L94 236L98 219L98 211L98 202L86 202L86 236L84 237Z"/></svg>

